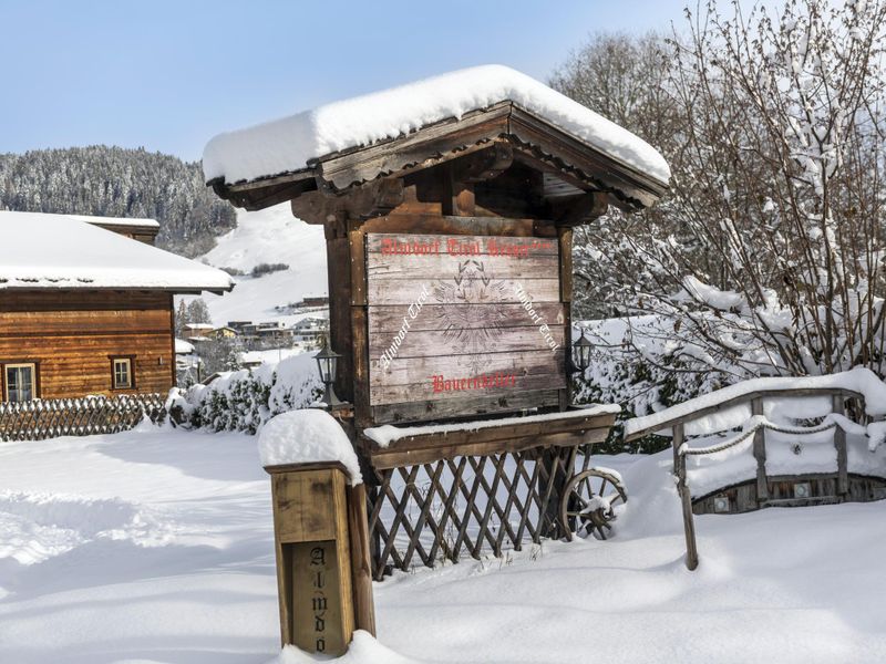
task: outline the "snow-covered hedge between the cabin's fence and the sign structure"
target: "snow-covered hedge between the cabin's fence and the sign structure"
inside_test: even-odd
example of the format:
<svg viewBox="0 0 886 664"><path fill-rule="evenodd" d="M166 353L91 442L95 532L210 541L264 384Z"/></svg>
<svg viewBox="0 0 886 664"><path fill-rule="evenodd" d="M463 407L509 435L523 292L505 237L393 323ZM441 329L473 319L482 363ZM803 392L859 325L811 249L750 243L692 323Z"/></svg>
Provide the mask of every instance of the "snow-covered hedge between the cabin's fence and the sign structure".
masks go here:
<svg viewBox="0 0 886 664"><path fill-rule="evenodd" d="M169 406L176 419L196 428L255 434L275 415L307 408L322 391L313 353L302 353L179 391Z"/></svg>

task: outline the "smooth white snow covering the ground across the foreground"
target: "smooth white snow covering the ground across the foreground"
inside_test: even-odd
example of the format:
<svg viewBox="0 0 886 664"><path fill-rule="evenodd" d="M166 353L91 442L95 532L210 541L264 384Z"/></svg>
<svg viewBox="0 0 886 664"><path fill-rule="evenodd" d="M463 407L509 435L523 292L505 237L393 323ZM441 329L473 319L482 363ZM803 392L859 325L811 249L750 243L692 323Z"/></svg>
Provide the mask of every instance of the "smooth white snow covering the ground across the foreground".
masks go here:
<svg viewBox="0 0 886 664"><path fill-rule="evenodd" d="M617 539L398 573L375 587L379 642L361 634L346 661L886 661L886 504L700 517L689 572L669 453L596 463L630 490ZM255 437L0 443L0 662L276 657Z"/></svg>

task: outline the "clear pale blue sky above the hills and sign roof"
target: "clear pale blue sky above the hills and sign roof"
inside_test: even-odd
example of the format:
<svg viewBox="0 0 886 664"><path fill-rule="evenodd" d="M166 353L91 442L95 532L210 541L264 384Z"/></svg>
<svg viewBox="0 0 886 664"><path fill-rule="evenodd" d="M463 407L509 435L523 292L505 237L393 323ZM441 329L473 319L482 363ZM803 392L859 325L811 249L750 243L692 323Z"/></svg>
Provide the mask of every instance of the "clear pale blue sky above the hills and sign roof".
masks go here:
<svg viewBox="0 0 886 664"><path fill-rule="evenodd" d="M474 64L545 80L598 30L682 0L0 0L0 153L104 143L199 158L214 134Z"/></svg>

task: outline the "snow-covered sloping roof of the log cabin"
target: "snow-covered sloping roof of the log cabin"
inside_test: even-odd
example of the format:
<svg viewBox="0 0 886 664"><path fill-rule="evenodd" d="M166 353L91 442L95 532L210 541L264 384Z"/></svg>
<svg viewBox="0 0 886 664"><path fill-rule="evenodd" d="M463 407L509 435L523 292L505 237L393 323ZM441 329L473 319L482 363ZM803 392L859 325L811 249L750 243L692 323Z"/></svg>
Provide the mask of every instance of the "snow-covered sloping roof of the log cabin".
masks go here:
<svg viewBox="0 0 886 664"><path fill-rule="evenodd" d="M0 289L226 291L227 272L64 215L0 211Z"/></svg>

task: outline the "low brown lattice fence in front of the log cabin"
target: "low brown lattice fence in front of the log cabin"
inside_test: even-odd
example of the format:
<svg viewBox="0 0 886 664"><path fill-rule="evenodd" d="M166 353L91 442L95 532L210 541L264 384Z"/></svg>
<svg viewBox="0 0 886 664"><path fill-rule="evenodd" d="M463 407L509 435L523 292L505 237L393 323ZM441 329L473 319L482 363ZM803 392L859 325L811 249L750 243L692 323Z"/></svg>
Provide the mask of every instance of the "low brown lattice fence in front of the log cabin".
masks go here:
<svg viewBox="0 0 886 664"><path fill-rule="evenodd" d="M0 402L0 439L42 440L55 436L115 434L134 427L145 415L153 422L165 415L163 395Z"/></svg>

